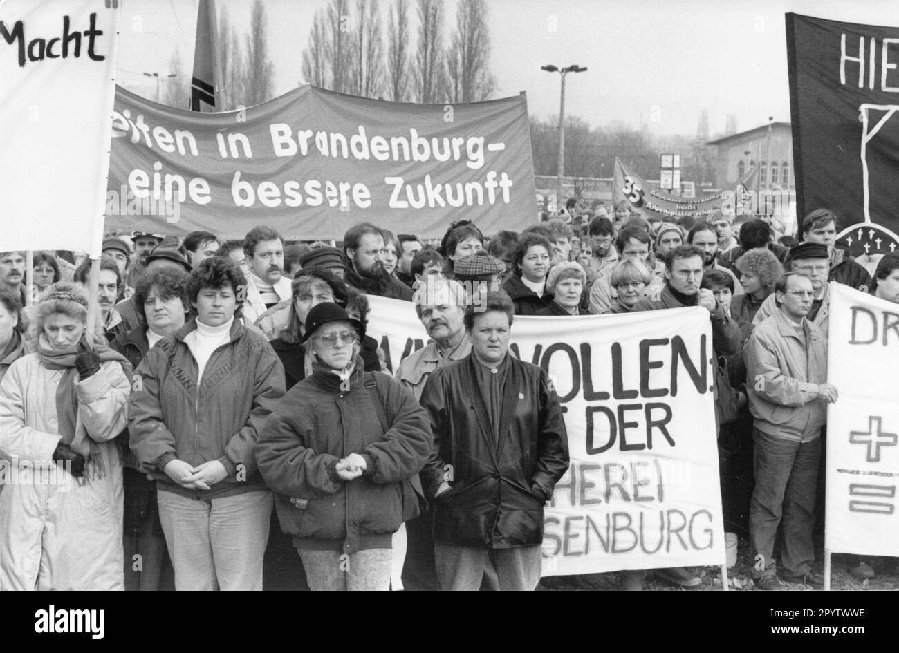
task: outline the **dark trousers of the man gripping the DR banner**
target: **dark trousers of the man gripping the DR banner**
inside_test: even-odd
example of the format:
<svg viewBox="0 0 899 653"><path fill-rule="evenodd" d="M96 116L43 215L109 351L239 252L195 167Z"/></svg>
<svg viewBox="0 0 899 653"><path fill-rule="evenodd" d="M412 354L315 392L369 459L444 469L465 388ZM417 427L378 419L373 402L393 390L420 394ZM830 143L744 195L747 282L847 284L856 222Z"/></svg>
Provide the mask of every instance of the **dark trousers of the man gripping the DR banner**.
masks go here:
<svg viewBox="0 0 899 653"><path fill-rule="evenodd" d="M752 556L764 557L755 578L774 575L774 541L780 526L780 566L790 574L805 574L814 562L814 494L821 458L821 438L806 443L770 436L752 429L755 439L755 490L749 512Z"/></svg>

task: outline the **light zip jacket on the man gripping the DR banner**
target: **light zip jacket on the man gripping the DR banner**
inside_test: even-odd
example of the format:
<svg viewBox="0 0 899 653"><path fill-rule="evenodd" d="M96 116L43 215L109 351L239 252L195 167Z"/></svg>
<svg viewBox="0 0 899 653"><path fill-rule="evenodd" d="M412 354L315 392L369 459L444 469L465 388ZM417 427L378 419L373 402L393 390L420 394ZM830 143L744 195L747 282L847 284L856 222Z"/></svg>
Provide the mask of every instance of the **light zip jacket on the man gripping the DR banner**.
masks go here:
<svg viewBox="0 0 899 653"><path fill-rule="evenodd" d="M827 339L808 320L803 342L782 311L758 324L746 342L746 394L755 428L807 442L821 435L827 404L816 401L827 382Z"/></svg>

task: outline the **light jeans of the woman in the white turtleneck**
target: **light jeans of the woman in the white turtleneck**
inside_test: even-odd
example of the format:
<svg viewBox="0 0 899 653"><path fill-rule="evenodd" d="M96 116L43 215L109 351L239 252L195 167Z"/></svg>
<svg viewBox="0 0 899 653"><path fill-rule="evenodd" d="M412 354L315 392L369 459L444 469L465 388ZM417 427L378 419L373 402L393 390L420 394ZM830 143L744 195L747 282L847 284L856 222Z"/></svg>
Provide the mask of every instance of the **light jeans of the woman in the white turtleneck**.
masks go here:
<svg viewBox="0 0 899 653"><path fill-rule="evenodd" d="M273 499L254 490L221 499L190 499L157 490L159 520L177 590L262 590Z"/></svg>

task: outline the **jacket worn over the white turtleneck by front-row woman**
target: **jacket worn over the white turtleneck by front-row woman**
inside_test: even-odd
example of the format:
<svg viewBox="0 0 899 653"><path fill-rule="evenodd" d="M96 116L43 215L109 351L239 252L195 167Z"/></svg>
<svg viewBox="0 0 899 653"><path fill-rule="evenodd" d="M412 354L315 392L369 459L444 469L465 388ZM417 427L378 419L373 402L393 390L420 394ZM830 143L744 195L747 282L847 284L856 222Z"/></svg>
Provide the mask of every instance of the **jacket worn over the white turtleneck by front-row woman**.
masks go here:
<svg viewBox="0 0 899 653"><path fill-rule="evenodd" d="M231 340L212 353L198 387L197 362L184 342L196 328L191 320L159 340L138 366L129 410L131 450L160 490L192 499L262 490L254 450L284 394L280 361L262 333L235 320ZM174 458L194 466L221 460L228 474L209 490L187 490L163 472Z"/></svg>

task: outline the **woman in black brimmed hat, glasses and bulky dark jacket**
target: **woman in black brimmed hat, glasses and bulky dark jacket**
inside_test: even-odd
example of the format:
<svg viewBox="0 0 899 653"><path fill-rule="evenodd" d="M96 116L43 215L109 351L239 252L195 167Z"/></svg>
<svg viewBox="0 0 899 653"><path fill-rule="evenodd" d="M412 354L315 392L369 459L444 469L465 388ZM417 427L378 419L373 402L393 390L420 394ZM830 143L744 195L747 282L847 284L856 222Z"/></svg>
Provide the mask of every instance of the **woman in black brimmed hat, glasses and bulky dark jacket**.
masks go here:
<svg viewBox="0 0 899 653"><path fill-rule="evenodd" d="M314 590L389 587L391 537L418 515L414 477L431 452L412 394L362 369L362 335L337 304L309 311L302 342L312 375L274 408L256 447Z"/></svg>

